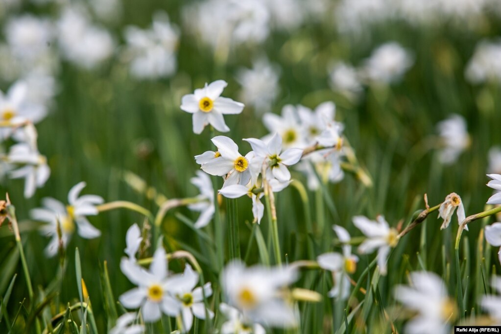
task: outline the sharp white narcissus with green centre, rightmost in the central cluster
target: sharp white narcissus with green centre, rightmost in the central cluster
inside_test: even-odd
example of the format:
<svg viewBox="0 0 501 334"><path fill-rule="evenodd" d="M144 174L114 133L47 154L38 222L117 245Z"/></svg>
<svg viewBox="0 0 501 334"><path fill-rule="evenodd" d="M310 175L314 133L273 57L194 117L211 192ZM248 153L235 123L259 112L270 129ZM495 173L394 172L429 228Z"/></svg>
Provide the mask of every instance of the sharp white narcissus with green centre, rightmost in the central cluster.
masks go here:
<svg viewBox="0 0 501 334"><path fill-rule="evenodd" d="M256 158L261 158L263 163L267 164L266 177L279 182L288 182L291 180L291 173L287 167L295 165L301 159L303 150L299 148L290 148L282 152L282 137L275 133L268 143L256 138L244 139L254 150Z"/></svg>

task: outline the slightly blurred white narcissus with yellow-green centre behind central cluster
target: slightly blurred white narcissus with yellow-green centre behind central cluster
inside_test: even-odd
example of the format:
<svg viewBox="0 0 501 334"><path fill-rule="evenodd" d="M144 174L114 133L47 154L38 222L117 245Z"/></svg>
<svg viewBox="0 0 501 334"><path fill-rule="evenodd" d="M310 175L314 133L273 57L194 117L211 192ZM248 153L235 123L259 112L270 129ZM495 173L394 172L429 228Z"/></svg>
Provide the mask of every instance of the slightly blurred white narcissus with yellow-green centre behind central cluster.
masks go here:
<svg viewBox="0 0 501 334"><path fill-rule="evenodd" d="M294 106L284 106L282 108L282 116L266 113L263 116L263 123L268 131L270 131L270 135L263 138L263 140L269 140L273 134L278 133L282 137L285 148L304 148L307 146Z"/></svg>

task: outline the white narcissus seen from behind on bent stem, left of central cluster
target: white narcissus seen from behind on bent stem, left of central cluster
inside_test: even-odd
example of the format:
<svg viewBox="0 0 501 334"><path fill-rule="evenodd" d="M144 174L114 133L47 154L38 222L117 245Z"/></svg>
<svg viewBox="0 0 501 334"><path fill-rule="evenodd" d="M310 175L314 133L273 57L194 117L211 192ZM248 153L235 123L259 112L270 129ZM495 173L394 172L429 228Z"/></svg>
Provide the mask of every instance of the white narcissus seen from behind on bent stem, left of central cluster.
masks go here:
<svg viewBox="0 0 501 334"><path fill-rule="evenodd" d="M202 171L196 171L196 177L191 178L191 184L198 188L200 195L197 196L199 201L188 205L188 209L200 212L195 228L202 228L207 226L215 212L214 189L210 177Z"/></svg>

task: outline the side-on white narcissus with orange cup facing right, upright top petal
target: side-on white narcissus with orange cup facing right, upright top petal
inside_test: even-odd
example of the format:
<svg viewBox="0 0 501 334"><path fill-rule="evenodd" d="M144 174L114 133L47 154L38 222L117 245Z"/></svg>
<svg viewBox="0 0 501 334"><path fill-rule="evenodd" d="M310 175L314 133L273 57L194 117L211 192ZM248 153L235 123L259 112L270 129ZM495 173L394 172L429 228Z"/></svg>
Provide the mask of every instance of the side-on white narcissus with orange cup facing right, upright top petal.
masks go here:
<svg viewBox="0 0 501 334"><path fill-rule="evenodd" d="M343 243L343 254L330 252L317 257L317 262L321 268L330 270L333 273L334 286L329 291L329 297L340 297L346 299L350 295L350 277L357 269L358 257L351 253L350 234L339 225L333 226L339 240Z"/></svg>

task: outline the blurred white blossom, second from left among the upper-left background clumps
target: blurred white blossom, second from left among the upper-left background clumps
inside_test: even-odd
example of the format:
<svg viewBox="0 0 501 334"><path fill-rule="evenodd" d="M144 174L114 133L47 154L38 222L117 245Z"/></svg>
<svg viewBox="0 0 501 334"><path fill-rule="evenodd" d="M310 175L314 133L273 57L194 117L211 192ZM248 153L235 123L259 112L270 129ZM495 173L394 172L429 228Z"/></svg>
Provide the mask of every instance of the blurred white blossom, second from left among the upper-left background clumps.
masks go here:
<svg viewBox="0 0 501 334"><path fill-rule="evenodd" d="M115 49L111 35L93 25L82 7L64 9L58 21L59 45L63 56L85 69L93 69L108 59Z"/></svg>

